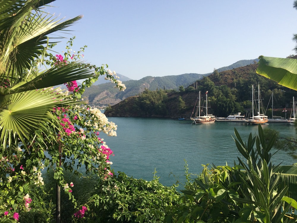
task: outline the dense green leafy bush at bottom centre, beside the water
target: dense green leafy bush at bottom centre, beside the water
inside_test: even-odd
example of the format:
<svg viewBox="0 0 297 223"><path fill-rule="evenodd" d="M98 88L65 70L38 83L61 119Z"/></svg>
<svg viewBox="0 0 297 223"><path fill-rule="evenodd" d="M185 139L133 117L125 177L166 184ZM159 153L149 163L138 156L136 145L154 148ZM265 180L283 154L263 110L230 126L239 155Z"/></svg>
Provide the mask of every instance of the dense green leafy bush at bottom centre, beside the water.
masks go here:
<svg viewBox="0 0 297 223"><path fill-rule="evenodd" d="M89 215L97 222L162 222L165 208L178 204L179 197L175 186L163 186L156 176L146 181L122 172L104 181L98 190L101 194L98 191L99 196L94 196Z"/></svg>

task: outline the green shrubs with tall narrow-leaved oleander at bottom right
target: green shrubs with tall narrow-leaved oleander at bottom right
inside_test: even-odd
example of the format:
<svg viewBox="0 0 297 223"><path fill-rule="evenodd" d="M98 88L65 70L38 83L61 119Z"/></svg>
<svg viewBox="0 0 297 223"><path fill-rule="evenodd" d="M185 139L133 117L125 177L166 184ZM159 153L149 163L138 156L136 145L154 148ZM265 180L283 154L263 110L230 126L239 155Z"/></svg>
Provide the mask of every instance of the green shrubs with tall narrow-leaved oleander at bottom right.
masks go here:
<svg viewBox="0 0 297 223"><path fill-rule="evenodd" d="M238 164L204 166L202 176L187 183L182 205L168 207L166 222L295 222L286 212L296 201L286 198L287 186L273 172L270 150L275 135L267 140L259 125L258 136L244 143L235 131ZM255 148L254 148L255 146ZM188 175L189 176L189 175ZM281 186L280 186L281 185Z"/></svg>

